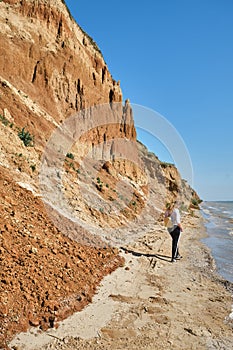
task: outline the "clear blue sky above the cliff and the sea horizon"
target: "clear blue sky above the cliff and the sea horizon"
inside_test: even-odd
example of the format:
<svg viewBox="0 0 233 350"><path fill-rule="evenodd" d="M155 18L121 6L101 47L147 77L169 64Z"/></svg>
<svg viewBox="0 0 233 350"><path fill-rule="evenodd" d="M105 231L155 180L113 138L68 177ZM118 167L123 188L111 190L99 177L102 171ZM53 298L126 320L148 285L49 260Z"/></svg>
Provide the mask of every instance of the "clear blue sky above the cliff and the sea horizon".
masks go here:
<svg viewBox="0 0 233 350"><path fill-rule="evenodd" d="M233 1L66 4L120 80L123 98L158 112L177 130L201 198L233 200ZM140 129L138 138L171 161L157 139Z"/></svg>

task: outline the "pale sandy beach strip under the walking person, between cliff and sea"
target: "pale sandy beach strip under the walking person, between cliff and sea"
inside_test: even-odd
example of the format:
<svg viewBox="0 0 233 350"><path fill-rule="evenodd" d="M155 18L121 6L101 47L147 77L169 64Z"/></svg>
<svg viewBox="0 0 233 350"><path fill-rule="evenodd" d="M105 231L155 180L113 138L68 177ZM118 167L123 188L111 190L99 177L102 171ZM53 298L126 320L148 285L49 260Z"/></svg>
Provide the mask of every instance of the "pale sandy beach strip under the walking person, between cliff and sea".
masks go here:
<svg viewBox="0 0 233 350"><path fill-rule="evenodd" d="M158 224L155 232L125 247L135 254L121 251L125 266L103 279L84 310L58 329L17 335L10 348L199 350L221 344L230 349L233 284L217 273L210 249L201 242L206 235L200 213L185 217L183 258L171 264L170 237Z"/></svg>

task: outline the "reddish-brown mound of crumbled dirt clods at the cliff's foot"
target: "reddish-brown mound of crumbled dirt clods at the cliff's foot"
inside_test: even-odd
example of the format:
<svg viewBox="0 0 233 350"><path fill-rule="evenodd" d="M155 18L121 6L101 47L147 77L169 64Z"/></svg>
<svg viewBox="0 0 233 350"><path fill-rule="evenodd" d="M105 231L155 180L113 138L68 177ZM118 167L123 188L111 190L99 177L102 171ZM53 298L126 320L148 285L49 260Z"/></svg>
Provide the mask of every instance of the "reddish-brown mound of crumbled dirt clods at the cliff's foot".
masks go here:
<svg viewBox="0 0 233 350"><path fill-rule="evenodd" d="M82 246L49 221L39 198L1 168L0 346L29 326L45 330L91 301L117 251Z"/></svg>

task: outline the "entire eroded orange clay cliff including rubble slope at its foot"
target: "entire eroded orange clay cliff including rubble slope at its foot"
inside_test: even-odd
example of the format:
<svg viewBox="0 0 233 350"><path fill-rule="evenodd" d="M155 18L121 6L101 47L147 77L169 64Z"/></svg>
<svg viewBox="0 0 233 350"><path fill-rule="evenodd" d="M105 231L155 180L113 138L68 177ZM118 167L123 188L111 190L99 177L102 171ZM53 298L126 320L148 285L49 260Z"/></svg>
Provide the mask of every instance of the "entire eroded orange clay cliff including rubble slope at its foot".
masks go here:
<svg viewBox="0 0 233 350"><path fill-rule="evenodd" d="M136 142L129 101L63 1L1 1L0 26L0 333L9 339L91 300L122 263L103 242L134 240L167 201L187 209L198 196Z"/></svg>

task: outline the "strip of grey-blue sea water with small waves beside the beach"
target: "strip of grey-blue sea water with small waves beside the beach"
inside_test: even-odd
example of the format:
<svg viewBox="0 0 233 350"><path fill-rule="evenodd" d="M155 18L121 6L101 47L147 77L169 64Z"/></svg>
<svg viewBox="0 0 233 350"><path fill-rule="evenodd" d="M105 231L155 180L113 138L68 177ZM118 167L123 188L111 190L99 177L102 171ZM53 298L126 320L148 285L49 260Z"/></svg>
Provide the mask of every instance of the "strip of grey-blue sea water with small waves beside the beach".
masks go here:
<svg viewBox="0 0 233 350"><path fill-rule="evenodd" d="M201 211L208 233L203 241L212 251L218 273L233 282L233 201L204 202Z"/></svg>

